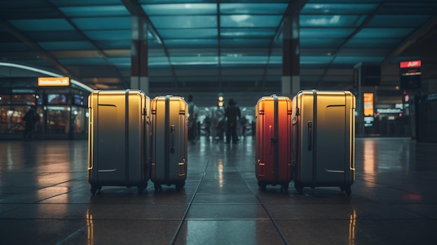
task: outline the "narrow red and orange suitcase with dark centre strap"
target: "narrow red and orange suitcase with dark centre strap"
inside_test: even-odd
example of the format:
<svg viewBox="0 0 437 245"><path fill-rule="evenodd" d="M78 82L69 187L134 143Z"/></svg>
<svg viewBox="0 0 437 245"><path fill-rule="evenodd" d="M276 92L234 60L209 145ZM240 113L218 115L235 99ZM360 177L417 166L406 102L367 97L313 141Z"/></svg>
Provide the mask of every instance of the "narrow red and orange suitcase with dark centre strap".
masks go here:
<svg viewBox="0 0 437 245"><path fill-rule="evenodd" d="M291 172L292 101L286 96L260 98L255 110L255 175L258 186L281 185L288 191Z"/></svg>

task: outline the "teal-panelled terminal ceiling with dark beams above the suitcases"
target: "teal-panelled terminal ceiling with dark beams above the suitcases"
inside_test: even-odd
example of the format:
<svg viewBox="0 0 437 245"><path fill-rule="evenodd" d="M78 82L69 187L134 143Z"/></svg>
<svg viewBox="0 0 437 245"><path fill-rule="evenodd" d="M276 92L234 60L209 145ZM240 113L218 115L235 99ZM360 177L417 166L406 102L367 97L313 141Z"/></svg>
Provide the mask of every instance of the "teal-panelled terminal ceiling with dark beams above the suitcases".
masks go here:
<svg viewBox="0 0 437 245"><path fill-rule="evenodd" d="M351 89L360 62L381 65L382 87L411 59L437 78L435 0L1 0L0 62L129 88L139 15L151 94L280 93L283 17L296 8L302 89Z"/></svg>

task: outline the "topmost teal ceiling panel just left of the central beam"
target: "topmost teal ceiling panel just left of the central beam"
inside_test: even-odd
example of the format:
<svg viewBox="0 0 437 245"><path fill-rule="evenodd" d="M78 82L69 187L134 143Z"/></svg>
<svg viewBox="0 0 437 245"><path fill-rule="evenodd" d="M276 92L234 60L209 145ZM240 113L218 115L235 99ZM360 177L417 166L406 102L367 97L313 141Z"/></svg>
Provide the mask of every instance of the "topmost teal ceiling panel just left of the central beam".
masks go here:
<svg viewBox="0 0 437 245"><path fill-rule="evenodd" d="M216 3L175 3L142 5L149 16L155 15L216 15Z"/></svg>

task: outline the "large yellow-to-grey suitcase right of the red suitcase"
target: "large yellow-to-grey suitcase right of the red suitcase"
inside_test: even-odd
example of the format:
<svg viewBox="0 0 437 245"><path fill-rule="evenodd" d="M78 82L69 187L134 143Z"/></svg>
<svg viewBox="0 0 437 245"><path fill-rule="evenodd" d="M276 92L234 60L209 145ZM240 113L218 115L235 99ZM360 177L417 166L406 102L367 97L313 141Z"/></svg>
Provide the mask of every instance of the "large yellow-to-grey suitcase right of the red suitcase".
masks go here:
<svg viewBox="0 0 437 245"><path fill-rule="evenodd" d="M302 90L292 99L293 181L304 187L339 186L350 195L355 180L355 96L350 91Z"/></svg>

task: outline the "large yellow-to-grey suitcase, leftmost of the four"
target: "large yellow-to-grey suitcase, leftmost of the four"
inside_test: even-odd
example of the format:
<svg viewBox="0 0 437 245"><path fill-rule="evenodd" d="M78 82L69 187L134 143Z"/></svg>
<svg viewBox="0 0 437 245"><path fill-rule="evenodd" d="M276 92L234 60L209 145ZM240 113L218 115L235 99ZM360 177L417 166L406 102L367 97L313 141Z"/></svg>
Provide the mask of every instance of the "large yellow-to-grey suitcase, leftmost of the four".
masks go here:
<svg viewBox="0 0 437 245"><path fill-rule="evenodd" d="M138 186L149 180L150 98L134 89L93 91L88 98L88 181L102 186Z"/></svg>

